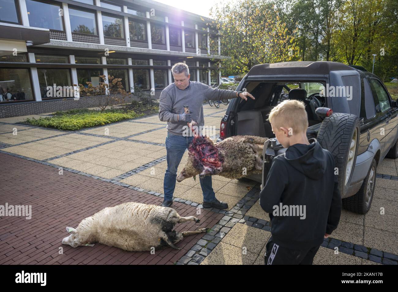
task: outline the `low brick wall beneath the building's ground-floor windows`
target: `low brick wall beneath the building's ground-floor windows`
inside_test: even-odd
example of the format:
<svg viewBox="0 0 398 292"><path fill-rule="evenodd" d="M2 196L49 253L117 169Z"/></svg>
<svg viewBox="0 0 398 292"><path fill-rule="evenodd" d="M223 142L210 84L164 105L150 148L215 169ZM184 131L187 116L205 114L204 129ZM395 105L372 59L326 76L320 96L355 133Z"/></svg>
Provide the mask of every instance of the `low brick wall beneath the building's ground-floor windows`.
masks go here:
<svg viewBox="0 0 398 292"><path fill-rule="evenodd" d="M162 91L155 91L156 99L159 99ZM25 116L28 114L42 114L45 112L56 112L57 110L71 110L74 108L90 108L98 106L98 99L105 99L105 96L80 97L78 101L73 98L56 99L47 101L27 101L15 103L0 103L0 118L13 116ZM125 102L131 102L133 96L126 97Z"/></svg>

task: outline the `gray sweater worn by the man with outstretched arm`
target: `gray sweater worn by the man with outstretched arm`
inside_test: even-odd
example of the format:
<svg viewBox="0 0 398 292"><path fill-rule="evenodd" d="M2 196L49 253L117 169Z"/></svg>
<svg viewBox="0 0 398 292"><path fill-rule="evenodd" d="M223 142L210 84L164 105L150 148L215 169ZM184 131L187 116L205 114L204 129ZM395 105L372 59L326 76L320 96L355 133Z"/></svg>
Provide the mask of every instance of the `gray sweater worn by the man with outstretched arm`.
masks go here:
<svg viewBox="0 0 398 292"><path fill-rule="evenodd" d="M188 87L184 90L171 83L160 94L159 119L162 122L167 122L168 133L182 136L183 126L187 126L187 123L178 122L177 118L184 112L184 104L187 104L189 112L193 113L192 120L198 122L199 126L204 126L202 106L204 101L221 101L235 97L236 91L215 89L197 81L189 81Z"/></svg>

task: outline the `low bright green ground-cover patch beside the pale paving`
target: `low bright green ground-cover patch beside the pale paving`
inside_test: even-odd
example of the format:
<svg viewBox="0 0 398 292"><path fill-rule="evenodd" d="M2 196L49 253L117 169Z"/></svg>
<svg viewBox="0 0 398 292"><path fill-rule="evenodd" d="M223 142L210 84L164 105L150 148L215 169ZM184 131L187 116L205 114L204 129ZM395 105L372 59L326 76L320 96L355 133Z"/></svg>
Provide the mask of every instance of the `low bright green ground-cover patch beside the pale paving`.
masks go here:
<svg viewBox="0 0 398 292"><path fill-rule="evenodd" d="M104 111L76 109L56 112L53 117L26 119L24 122L35 126L55 128L59 130L80 130L82 128L103 126L121 120L137 118L144 114L137 114L133 110L109 109Z"/></svg>

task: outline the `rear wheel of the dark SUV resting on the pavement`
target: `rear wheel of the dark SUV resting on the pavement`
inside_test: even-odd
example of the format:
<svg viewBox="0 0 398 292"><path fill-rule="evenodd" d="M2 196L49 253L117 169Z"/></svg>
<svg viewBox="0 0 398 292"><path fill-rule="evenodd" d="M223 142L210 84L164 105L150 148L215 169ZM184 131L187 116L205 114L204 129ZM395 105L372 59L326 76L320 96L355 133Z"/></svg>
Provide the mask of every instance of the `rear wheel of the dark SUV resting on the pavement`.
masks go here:
<svg viewBox="0 0 398 292"><path fill-rule="evenodd" d="M344 209L357 214L366 214L369 211L372 204L373 193L375 192L376 170L377 163L376 160L373 159L368 175L363 180L359 191L355 195L342 200Z"/></svg>

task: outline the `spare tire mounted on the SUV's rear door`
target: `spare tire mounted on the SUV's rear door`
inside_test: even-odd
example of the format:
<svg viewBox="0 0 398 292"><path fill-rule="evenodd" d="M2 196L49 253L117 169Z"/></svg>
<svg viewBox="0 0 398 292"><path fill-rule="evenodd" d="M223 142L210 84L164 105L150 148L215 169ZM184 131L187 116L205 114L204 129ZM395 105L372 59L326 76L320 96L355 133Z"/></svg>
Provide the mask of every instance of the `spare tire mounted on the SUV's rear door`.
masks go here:
<svg viewBox="0 0 398 292"><path fill-rule="evenodd" d="M342 198L347 195L357 161L359 135L357 116L333 113L330 117L324 118L316 137L322 148L329 150L334 157Z"/></svg>

